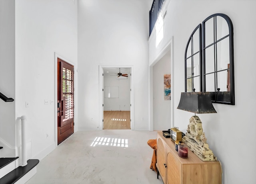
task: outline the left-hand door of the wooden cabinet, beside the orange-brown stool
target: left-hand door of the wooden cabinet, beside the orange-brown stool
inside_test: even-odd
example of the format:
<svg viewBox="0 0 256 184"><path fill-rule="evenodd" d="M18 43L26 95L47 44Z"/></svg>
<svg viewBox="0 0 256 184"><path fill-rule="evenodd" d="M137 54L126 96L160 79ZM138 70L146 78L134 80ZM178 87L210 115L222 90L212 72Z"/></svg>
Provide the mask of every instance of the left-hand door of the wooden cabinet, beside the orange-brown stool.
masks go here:
<svg viewBox="0 0 256 184"><path fill-rule="evenodd" d="M162 139L157 139L157 168L165 184L166 183L166 154L165 154L165 143L163 143Z"/></svg>

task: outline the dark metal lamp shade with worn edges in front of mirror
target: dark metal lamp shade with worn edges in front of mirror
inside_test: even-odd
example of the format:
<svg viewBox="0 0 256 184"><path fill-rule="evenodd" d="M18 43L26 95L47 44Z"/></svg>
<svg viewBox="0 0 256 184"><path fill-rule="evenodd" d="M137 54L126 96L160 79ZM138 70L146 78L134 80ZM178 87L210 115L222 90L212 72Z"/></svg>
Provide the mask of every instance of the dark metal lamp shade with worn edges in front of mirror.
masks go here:
<svg viewBox="0 0 256 184"><path fill-rule="evenodd" d="M177 109L196 114L217 113L209 92L182 92Z"/></svg>

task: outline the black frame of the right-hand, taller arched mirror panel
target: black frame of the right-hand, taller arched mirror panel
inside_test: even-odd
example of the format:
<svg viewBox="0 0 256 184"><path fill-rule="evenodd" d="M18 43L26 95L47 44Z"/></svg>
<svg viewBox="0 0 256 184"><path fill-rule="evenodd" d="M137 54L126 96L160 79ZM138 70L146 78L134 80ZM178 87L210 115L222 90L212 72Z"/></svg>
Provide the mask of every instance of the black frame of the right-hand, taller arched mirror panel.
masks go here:
<svg viewBox="0 0 256 184"><path fill-rule="evenodd" d="M228 23L228 29L229 29L229 59L230 59L230 102L225 102L221 100L216 100L217 93L221 93L218 91L215 91L212 96L212 103L218 103L218 104L228 104L228 105L235 105L235 84L234 84L234 32L233 32L233 24L230 18L226 14L213 14L206 18L202 22L202 91L206 92L206 79L205 79L205 23L213 17L221 16L226 20ZM223 96L223 95L222 95ZM224 94L225 96L225 94ZM225 99L225 97L223 98Z"/></svg>

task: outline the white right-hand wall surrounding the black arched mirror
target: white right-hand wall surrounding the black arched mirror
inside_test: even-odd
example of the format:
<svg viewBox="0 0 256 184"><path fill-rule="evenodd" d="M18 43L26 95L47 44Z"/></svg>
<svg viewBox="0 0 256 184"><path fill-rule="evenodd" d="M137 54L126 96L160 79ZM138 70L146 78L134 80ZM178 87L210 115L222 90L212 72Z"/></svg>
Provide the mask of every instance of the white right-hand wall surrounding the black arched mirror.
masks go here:
<svg viewBox="0 0 256 184"><path fill-rule="evenodd" d="M254 62L256 1L252 0L171 0L164 19L164 39L156 47L155 34L149 41L149 63L153 63L173 36L174 41L174 125L186 132L193 115L176 109L184 92L184 51L194 28L208 16L224 13L234 26L235 104L213 104L217 114L199 115L210 149L222 163L224 184L256 183Z"/></svg>

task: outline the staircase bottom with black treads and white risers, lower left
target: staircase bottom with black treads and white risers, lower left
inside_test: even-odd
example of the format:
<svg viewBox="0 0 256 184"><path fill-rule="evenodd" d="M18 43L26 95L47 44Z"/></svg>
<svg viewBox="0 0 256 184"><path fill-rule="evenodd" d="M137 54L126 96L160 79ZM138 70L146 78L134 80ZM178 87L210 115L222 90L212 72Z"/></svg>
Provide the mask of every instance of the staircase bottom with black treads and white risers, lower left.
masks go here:
<svg viewBox="0 0 256 184"><path fill-rule="evenodd" d="M29 159L26 166L18 166L18 158L0 158L0 184L24 184L36 174L38 159Z"/></svg>

